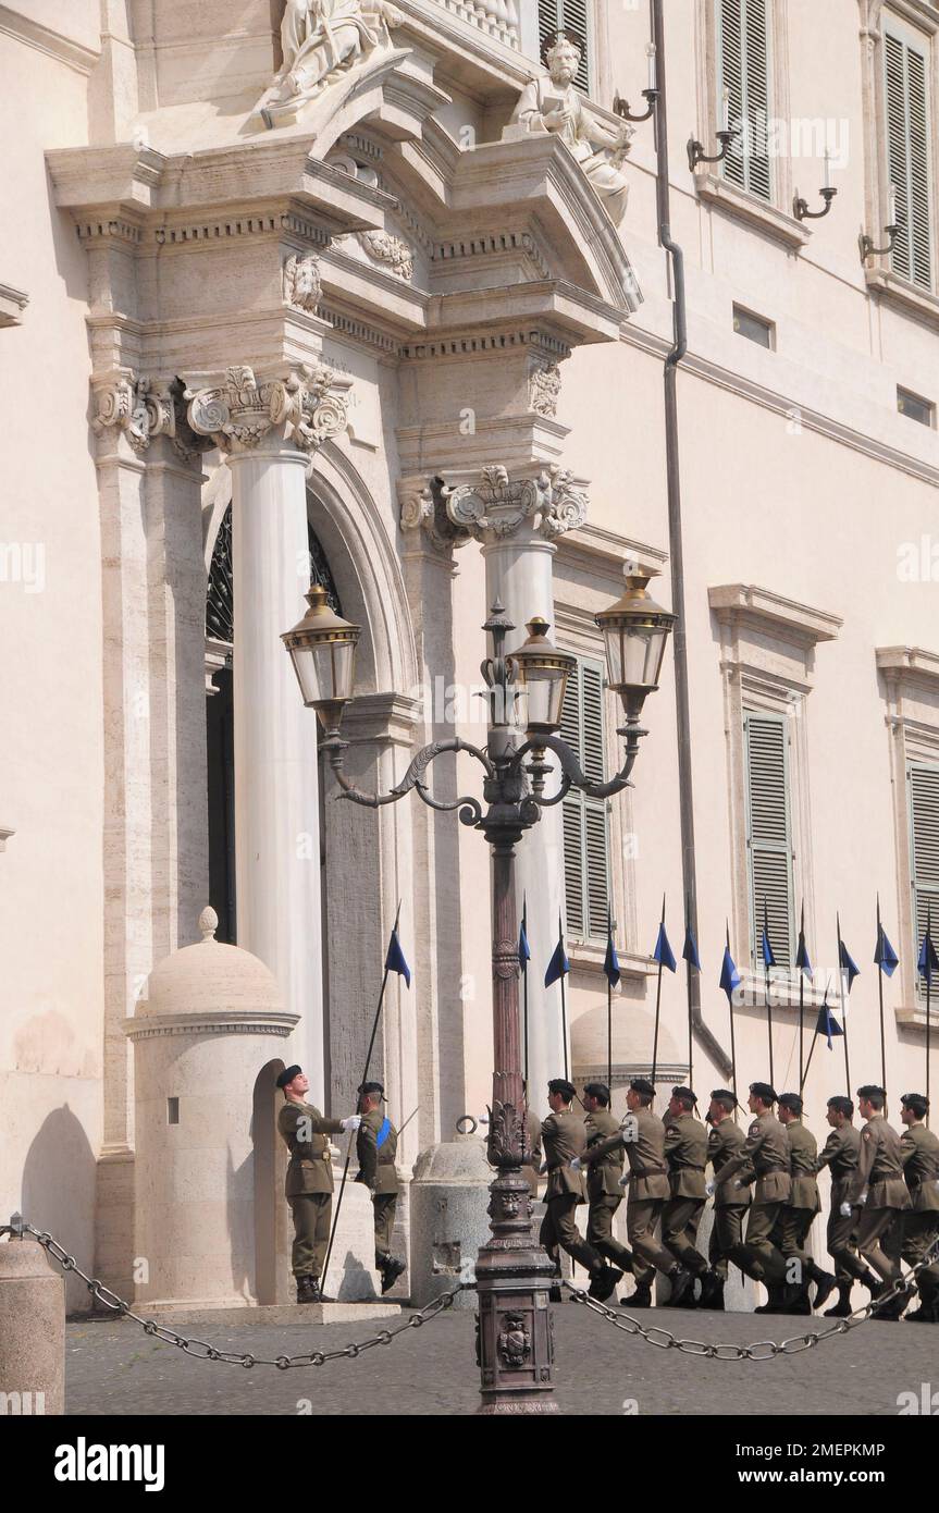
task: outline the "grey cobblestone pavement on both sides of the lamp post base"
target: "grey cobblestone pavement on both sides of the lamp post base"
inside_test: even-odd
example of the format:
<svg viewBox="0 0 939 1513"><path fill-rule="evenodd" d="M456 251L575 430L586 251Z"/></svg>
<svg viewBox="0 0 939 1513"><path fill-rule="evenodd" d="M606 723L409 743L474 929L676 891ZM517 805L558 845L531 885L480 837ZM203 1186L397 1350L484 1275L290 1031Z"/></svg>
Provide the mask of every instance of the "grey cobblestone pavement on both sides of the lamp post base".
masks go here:
<svg viewBox="0 0 939 1513"><path fill-rule="evenodd" d="M683 1309L643 1318L679 1336L732 1344L818 1327L818 1319ZM198 1331L219 1348L265 1356L334 1350L372 1333L366 1321ZM868 1322L798 1356L736 1363L656 1350L566 1303L555 1309L555 1342L558 1401L569 1415L875 1416L897 1415L901 1392L939 1389L934 1325ZM65 1374L70 1415L296 1415L302 1400L316 1415L470 1415L479 1401L467 1312L445 1313L357 1360L296 1371L192 1360L132 1324L73 1322Z"/></svg>

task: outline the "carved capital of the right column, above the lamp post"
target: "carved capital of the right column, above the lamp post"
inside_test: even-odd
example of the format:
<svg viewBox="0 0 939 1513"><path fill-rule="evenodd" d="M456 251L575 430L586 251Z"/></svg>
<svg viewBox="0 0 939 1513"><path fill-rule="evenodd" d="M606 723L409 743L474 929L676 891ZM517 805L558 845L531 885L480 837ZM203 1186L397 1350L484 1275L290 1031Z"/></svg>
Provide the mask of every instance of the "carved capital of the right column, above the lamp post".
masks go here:
<svg viewBox="0 0 939 1513"><path fill-rule="evenodd" d="M546 540L576 531L587 519L587 495L573 474L556 464L534 478L510 478L505 468L484 468L476 483L443 489L452 525L479 540L514 536L525 520Z"/></svg>

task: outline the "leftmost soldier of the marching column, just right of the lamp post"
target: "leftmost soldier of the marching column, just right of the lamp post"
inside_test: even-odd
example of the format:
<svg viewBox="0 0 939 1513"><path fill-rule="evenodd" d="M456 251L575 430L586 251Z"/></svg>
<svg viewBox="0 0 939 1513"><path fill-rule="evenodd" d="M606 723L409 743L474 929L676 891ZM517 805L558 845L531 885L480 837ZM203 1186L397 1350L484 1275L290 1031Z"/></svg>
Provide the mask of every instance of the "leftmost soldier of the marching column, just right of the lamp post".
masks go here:
<svg viewBox="0 0 939 1513"><path fill-rule="evenodd" d="M587 1203L587 1183L581 1170L581 1157L587 1150L584 1120L572 1112L575 1089L564 1077L547 1083L550 1114L541 1126L541 1141L547 1163L547 1188L544 1203L547 1212L541 1221L538 1244L559 1263L558 1247L567 1251L590 1272L590 1297L605 1303L623 1275L615 1266L581 1238L575 1224L575 1209Z"/></svg>

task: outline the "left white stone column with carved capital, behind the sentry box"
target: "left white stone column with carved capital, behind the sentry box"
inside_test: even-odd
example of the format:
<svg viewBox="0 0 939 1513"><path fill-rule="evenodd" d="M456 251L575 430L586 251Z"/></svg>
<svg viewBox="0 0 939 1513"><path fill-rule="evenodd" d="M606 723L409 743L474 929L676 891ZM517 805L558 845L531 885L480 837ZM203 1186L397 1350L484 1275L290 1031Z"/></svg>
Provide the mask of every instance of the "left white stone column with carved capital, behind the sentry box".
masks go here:
<svg viewBox="0 0 939 1513"><path fill-rule="evenodd" d="M348 386L346 386L348 387ZM231 468L234 567L234 846L237 943L271 968L301 1015L296 1055L322 1108L324 1008L316 719L281 634L310 586L307 472L346 425L342 381L301 365L256 378L228 368L186 392L194 431Z"/></svg>

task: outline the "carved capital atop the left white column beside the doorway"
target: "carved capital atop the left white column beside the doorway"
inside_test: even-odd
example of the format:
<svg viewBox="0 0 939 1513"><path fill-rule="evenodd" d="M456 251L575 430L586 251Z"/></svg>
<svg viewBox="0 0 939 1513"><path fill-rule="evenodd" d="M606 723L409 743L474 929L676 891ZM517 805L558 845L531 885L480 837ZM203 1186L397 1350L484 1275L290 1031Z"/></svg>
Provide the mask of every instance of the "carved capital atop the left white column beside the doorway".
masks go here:
<svg viewBox="0 0 939 1513"><path fill-rule="evenodd" d="M286 378L260 381L253 368L228 368L222 384L186 389L184 398L192 430L225 452L251 451L277 430L311 454L345 431L349 386L349 378L321 363L299 363Z"/></svg>

